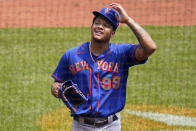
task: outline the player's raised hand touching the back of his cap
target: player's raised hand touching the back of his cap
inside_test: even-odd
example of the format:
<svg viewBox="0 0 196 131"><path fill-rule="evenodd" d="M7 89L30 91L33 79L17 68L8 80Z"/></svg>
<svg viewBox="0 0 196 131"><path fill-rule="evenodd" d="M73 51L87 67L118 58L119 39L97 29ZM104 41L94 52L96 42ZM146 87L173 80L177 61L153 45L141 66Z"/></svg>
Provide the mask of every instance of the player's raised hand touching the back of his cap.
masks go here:
<svg viewBox="0 0 196 131"><path fill-rule="evenodd" d="M120 18L119 18L119 22L120 23L128 23L128 21L130 20L129 15L127 14L127 12L125 11L125 9L118 3L112 3L110 4L110 6L115 9L116 11L118 11Z"/></svg>

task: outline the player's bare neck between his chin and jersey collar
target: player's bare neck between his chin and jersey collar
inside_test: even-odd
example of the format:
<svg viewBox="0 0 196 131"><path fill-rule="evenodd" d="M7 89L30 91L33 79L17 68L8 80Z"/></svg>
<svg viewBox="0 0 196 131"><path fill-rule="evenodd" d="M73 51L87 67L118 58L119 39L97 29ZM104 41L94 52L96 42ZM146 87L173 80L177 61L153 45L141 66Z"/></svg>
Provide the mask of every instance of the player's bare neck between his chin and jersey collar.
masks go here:
<svg viewBox="0 0 196 131"><path fill-rule="evenodd" d="M90 43L90 51L95 56L101 55L108 48L109 48L109 41L108 42L97 42L97 41L91 40L91 43Z"/></svg>

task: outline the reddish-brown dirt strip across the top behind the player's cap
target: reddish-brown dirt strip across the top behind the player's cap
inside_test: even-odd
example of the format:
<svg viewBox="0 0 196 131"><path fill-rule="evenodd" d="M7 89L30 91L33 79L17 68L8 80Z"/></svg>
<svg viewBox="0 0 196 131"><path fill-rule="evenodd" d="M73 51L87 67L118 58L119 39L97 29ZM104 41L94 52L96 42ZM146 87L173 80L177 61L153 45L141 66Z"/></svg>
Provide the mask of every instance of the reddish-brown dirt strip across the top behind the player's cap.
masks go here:
<svg viewBox="0 0 196 131"><path fill-rule="evenodd" d="M0 0L0 27L89 26L112 2L142 25L196 25L196 0Z"/></svg>

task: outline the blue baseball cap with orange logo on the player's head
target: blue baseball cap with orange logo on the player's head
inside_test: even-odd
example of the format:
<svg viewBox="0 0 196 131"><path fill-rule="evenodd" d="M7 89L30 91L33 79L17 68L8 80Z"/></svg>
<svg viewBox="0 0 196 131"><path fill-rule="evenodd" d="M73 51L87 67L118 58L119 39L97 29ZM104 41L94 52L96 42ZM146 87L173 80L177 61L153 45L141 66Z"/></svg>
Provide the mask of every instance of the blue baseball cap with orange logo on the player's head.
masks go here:
<svg viewBox="0 0 196 131"><path fill-rule="evenodd" d="M117 11L110 7L104 7L101 9L100 12L93 11L93 14L95 16L104 16L106 19L108 19L115 27L115 29L119 26L119 14Z"/></svg>

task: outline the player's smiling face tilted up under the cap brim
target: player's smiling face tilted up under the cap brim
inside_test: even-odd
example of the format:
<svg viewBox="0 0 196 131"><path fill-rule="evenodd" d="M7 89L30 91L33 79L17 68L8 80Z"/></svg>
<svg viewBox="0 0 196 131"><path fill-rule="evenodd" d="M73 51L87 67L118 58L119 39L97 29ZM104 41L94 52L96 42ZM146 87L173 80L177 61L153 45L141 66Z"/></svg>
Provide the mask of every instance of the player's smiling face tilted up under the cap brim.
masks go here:
<svg viewBox="0 0 196 131"><path fill-rule="evenodd" d="M92 39L96 41L109 41L114 33L113 26L103 17L97 17L91 26Z"/></svg>

